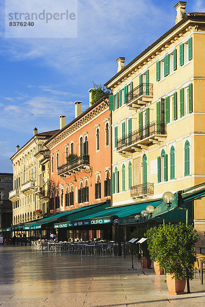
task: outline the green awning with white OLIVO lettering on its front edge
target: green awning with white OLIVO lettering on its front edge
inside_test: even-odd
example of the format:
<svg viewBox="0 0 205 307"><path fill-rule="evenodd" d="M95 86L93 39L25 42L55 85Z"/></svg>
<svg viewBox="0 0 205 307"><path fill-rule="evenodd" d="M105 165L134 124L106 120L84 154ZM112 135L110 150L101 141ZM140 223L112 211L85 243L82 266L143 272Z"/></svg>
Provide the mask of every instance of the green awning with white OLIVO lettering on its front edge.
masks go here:
<svg viewBox="0 0 205 307"><path fill-rule="evenodd" d="M54 228L68 228L68 227L76 227L76 226L86 226L86 225L101 225L113 223L113 217L119 217L119 223L124 224L121 218L125 218L130 215L135 215L141 210L145 210L147 206L152 205L156 207L160 201L152 201L152 202L144 202L134 205L125 205L125 206L116 206L106 208L102 211L96 212L94 214L90 214L84 217L84 219L79 218L74 221L70 220L65 223L58 223L54 225ZM70 216L69 216L70 218Z"/></svg>

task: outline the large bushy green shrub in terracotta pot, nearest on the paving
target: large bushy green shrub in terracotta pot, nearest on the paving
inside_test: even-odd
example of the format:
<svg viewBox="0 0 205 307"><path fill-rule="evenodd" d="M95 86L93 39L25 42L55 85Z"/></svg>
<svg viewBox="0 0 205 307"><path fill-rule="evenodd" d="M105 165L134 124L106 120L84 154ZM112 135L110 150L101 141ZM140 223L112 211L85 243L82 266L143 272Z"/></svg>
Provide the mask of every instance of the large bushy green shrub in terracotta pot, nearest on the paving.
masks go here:
<svg viewBox="0 0 205 307"><path fill-rule="evenodd" d="M149 235L149 234L148 234ZM186 279L194 277L196 229L182 223L154 229L153 255L167 273L168 294L185 294ZM149 247L152 254L152 245Z"/></svg>

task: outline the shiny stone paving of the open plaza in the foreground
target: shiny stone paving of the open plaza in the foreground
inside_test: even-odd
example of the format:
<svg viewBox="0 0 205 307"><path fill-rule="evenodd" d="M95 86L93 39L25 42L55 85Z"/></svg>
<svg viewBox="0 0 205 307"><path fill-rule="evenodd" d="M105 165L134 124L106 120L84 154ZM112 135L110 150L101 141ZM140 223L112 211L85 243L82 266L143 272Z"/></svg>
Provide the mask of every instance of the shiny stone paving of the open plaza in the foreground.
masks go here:
<svg viewBox="0 0 205 307"><path fill-rule="evenodd" d="M0 246L1 307L205 306L205 284L190 282L191 293L168 295L165 276L141 273L131 257L77 256Z"/></svg>

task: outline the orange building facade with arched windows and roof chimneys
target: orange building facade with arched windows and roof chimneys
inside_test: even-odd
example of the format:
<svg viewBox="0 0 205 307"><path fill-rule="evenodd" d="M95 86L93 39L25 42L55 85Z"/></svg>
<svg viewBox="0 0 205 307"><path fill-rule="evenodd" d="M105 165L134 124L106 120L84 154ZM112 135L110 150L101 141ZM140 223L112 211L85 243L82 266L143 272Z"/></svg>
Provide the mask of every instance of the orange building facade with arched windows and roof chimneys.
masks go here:
<svg viewBox="0 0 205 307"><path fill-rule="evenodd" d="M111 112L104 97L81 113L75 102L75 119L65 125L45 145L50 150L50 213L108 203L111 199ZM67 238L73 233L67 230ZM95 232L96 238L100 231ZM81 238L79 231L75 238ZM87 232L86 238L90 238Z"/></svg>

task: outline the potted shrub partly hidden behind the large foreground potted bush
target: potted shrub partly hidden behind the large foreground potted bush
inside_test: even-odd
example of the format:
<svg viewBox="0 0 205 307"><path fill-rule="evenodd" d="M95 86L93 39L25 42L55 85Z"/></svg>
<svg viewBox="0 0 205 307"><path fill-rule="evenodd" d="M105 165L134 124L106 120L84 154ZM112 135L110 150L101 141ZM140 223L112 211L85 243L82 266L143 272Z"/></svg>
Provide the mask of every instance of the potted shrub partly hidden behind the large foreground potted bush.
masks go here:
<svg viewBox="0 0 205 307"><path fill-rule="evenodd" d="M157 231L157 227L151 227L150 229L147 230L146 232L146 237L147 239L147 244L148 244L148 251L150 253L150 258L153 261L154 264L154 271L156 275L163 275L165 274L164 269L160 269L159 267L159 262L156 260L157 259L157 251L158 251L158 246L156 245L155 242L155 232Z"/></svg>

